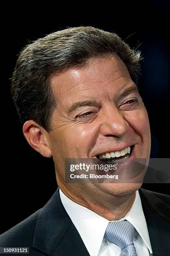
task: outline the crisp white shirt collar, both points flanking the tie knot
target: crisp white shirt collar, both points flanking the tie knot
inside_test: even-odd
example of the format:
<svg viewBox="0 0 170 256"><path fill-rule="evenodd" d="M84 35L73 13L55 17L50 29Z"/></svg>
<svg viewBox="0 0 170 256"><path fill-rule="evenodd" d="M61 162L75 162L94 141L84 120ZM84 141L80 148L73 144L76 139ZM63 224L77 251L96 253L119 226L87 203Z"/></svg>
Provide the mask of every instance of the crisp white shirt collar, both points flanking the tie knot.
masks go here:
<svg viewBox="0 0 170 256"><path fill-rule="evenodd" d="M87 250L89 251L89 254L97 256L101 243L103 241L107 225L109 224L109 222L112 221L109 221L102 216L96 214L95 212L87 209L86 207L72 201L63 194L61 189L59 189L59 193L61 202L69 217L71 218L73 224L75 225L76 229L78 230ZM120 220L128 220L134 226L134 228L137 230L137 232L140 234L141 238L145 242L150 253L152 253L149 233L147 230L145 215L143 213L138 190L136 191L132 207L130 208L129 212L127 212L127 214L124 216L124 218Z"/></svg>

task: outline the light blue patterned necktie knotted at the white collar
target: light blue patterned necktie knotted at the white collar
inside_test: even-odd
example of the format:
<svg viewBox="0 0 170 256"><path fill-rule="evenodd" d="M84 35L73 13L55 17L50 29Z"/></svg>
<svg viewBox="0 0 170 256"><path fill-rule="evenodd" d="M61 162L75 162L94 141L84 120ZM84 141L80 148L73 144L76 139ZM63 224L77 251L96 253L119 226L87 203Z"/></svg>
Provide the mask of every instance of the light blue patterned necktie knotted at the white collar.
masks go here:
<svg viewBox="0 0 170 256"><path fill-rule="evenodd" d="M120 256L137 256L133 243L134 226L127 220L110 222L104 238L121 248Z"/></svg>

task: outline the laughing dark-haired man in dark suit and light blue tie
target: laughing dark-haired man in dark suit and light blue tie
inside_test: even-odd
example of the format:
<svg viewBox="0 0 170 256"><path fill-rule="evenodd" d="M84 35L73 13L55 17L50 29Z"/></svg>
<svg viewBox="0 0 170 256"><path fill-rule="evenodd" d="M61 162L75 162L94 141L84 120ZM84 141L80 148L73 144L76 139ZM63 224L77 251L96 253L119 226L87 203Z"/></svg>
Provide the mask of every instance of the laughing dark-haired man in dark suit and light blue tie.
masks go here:
<svg viewBox="0 0 170 256"><path fill-rule="evenodd" d="M65 181L65 159L148 161L140 59L116 34L93 27L58 31L23 49L13 100L30 146L53 157L59 188L1 235L1 247L29 247L30 255L170 254L168 196L140 189L141 182Z"/></svg>

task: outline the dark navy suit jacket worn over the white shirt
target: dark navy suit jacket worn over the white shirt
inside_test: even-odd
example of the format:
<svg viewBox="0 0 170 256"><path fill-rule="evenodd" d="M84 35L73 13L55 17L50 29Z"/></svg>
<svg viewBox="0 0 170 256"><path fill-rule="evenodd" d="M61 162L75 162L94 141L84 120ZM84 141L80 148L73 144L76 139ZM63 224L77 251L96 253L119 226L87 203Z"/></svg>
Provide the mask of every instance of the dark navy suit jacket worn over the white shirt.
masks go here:
<svg viewBox="0 0 170 256"><path fill-rule="evenodd" d="M139 192L153 255L170 256L170 196ZM30 256L89 256L61 203L59 189L43 208L3 233L0 247L29 247Z"/></svg>

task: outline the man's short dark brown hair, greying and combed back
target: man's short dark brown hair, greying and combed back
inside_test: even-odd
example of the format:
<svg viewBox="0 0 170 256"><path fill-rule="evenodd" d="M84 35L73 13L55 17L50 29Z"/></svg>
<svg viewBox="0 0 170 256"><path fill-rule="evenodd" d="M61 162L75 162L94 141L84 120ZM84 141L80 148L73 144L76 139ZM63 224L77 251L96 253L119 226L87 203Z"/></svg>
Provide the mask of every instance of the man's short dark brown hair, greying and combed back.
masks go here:
<svg viewBox="0 0 170 256"><path fill-rule="evenodd" d="M137 83L140 51L130 49L116 33L81 26L51 33L26 45L11 78L11 93L21 123L32 119L50 132L51 116L57 106L51 88L52 75L82 67L91 57L113 54L124 61Z"/></svg>

